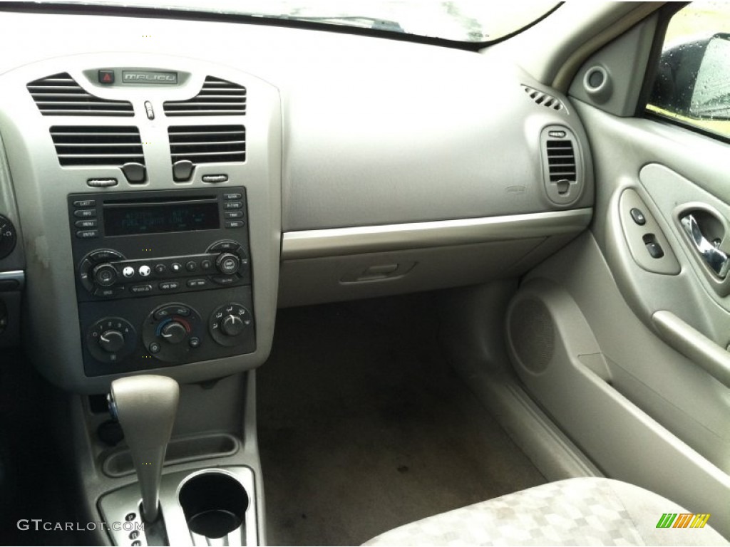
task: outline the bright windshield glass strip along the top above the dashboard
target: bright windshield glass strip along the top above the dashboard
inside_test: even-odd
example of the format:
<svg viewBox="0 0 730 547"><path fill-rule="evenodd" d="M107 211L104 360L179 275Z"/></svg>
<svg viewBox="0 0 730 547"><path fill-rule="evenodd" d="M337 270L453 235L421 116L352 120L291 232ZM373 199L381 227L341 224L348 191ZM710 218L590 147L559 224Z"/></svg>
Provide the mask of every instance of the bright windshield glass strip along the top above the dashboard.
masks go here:
<svg viewBox="0 0 730 547"><path fill-rule="evenodd" d="M528 26L558 5L544 0L61 0L53 3L113 4L304 20L461 42L491 42L502 38Z"/></svg>

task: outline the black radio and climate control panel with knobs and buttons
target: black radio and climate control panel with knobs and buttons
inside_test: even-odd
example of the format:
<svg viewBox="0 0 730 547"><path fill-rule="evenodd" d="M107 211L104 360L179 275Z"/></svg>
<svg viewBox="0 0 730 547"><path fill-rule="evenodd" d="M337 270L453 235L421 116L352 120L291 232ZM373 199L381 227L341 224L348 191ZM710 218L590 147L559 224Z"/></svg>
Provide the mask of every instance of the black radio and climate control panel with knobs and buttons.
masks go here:
<svg viewBox="0 0 730 547"><path fill-rule="evenodd" d="M256 349L245 187L68 196L87 376Z"/></svg>

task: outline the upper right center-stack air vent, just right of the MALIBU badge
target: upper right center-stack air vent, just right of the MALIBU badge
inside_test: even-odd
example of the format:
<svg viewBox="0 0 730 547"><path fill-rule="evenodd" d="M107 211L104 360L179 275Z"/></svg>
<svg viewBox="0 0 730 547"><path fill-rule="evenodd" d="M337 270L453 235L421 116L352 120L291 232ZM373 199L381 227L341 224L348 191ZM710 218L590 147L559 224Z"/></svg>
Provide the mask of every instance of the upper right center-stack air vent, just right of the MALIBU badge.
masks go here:
<svg viewBox="0 0 730 547"><path fill-rule="evenodd" d="M246 88L209 76L203 88L188 101L166 101L167 116L242 116L246 113Z"/></svg>

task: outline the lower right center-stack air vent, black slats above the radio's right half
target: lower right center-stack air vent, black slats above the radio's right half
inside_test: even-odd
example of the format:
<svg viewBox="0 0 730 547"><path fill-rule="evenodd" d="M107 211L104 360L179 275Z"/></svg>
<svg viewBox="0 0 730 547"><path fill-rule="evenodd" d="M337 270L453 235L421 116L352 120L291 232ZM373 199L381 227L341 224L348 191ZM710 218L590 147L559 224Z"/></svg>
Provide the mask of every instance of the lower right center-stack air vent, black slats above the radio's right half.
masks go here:
<svg viewBox="0 0 730 547"><path fill-rule="evenodd" d="M172 164L244 162L246 128L243 125L180 125L168 129Z"/></svg>

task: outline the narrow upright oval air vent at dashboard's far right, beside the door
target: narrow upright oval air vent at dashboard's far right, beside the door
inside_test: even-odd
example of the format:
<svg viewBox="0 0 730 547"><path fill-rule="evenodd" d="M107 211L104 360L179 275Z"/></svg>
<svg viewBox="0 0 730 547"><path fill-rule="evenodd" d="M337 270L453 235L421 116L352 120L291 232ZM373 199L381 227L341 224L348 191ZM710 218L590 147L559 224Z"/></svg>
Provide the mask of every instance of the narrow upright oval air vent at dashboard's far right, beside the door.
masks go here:
<svg viewBox="0 0 730 547"><path fill-rule="evenodd" d="M568 205L583 190L583 165L578 141L562 125L550 125L540 136L545 192L553 203Z"/></svg>

